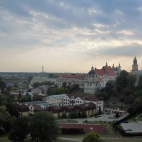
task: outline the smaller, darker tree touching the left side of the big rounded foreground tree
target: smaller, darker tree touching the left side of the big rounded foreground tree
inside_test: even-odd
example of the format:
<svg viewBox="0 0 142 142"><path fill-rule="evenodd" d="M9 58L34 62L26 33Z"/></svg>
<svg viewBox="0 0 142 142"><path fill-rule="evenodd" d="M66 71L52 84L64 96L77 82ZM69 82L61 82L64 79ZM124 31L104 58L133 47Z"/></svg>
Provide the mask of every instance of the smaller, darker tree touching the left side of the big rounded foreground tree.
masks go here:
<svg viewBox="0 0 142 142"><path fill-rule="evenodd" d="M19 117L12 125L9 140L13 142L23 142L28 131L28 117Z"/></svg>

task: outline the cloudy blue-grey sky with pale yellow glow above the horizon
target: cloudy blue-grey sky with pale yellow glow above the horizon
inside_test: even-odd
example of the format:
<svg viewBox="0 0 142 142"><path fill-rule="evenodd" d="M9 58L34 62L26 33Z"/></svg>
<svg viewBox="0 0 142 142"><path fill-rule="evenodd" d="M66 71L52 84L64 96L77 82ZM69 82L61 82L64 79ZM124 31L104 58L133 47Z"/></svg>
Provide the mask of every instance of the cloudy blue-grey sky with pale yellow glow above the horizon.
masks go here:
<svg viewBox="0 0 142 142"><path fill-rule="evenodd" d="M80 72L137 57L141 0L0 0L0 72Z"/></svg>

